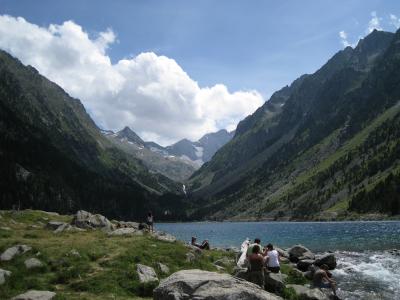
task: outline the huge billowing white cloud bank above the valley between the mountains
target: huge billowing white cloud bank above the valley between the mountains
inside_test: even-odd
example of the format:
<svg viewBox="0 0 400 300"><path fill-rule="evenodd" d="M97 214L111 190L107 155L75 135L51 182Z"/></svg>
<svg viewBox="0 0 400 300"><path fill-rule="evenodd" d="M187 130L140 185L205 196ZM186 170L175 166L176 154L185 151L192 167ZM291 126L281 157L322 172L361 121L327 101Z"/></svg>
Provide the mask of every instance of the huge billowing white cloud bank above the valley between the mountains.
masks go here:
<svg viewBox="0 0 400 300"><path fill-rule="evenodd" d="M90 38L73 21L44 28L0 16L0 48L81 99L106 129L128 125L145 140L164 145L184 137L196 140L234 128L264 102L257 91L199 87L175 60L152 52L112 64L107 49L115 42L111 29Z"/></svg>

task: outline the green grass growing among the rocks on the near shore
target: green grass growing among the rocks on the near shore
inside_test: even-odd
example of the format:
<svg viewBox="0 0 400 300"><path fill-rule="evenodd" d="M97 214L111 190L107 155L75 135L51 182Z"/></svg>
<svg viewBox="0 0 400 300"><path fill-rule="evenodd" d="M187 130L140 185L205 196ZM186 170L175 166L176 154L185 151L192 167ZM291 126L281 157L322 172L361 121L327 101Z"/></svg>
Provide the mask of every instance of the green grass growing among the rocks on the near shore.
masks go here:
<svg viewBox="0 0 400 300"><path fill-rule="evenodd" d="M101 230L54 234L44 228L45 222L68 221L71 217L38 211L3 211L1 216L0 227L11 230L0 230L0 252L16 244L33 249L10 262L0 262L0 268L12 272L0 289L0 299L29 289L55 291L56 299L142 299L152 295L155 285L139 283L138 263L153 267L162 279L168 275L159 272L158 262L167 265L171 273L194 268L217 271L213 264L216 260L234 258L231 253L212 250L187 262L189 249L181 242L159 241L150 235L108 237ZM80 255L72 255L72 250ZM37 257L45 266L26 270L24 261L31 257ZM226 267L226 272L232 267Z"/></svg>

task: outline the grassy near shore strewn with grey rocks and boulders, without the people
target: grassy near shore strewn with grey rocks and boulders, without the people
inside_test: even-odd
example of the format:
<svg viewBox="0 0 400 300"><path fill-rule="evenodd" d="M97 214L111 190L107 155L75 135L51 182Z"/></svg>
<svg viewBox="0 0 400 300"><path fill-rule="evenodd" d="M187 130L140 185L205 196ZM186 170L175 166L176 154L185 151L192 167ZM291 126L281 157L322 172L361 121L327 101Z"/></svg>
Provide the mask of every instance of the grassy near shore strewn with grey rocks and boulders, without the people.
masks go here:
<svg viewBox="0 0 400 300"><path fill-rule="evenodd" d="M1 299L330 299L310 287L332 253L295 245L277 249L282 273L265 273L264 289L236 267L236 248L202 251L146 224L74 216L0 212ZM140 298L139 298L140 299Z"/></svg>

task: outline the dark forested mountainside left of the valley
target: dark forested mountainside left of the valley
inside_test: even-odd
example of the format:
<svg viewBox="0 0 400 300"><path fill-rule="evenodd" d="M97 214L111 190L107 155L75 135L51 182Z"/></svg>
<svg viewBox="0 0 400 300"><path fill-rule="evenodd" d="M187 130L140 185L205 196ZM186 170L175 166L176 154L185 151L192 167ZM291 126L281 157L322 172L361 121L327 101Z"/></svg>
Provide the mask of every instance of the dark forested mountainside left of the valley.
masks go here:
<svg viewBox="0 0 400 300"><path fill-rule="evenodd" d="M115 148L79 100L3 51L0 166L2 209L86 209L116 218L141 218L149 209L159 218L184 215L181 185L149 173Z"/></svg>

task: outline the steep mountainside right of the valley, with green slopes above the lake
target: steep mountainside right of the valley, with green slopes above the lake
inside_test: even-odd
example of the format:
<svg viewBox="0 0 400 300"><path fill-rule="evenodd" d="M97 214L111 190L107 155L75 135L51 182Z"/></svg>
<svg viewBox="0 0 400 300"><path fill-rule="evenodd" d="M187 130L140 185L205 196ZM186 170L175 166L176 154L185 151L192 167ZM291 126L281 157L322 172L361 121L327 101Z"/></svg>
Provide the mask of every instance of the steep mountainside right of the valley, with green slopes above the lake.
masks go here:
<svg viewBox="0 0 400 300"><path fill-rule="evenodd" d="M400 214L400 31L277 91L189 180L194 219Z"/></svg>

